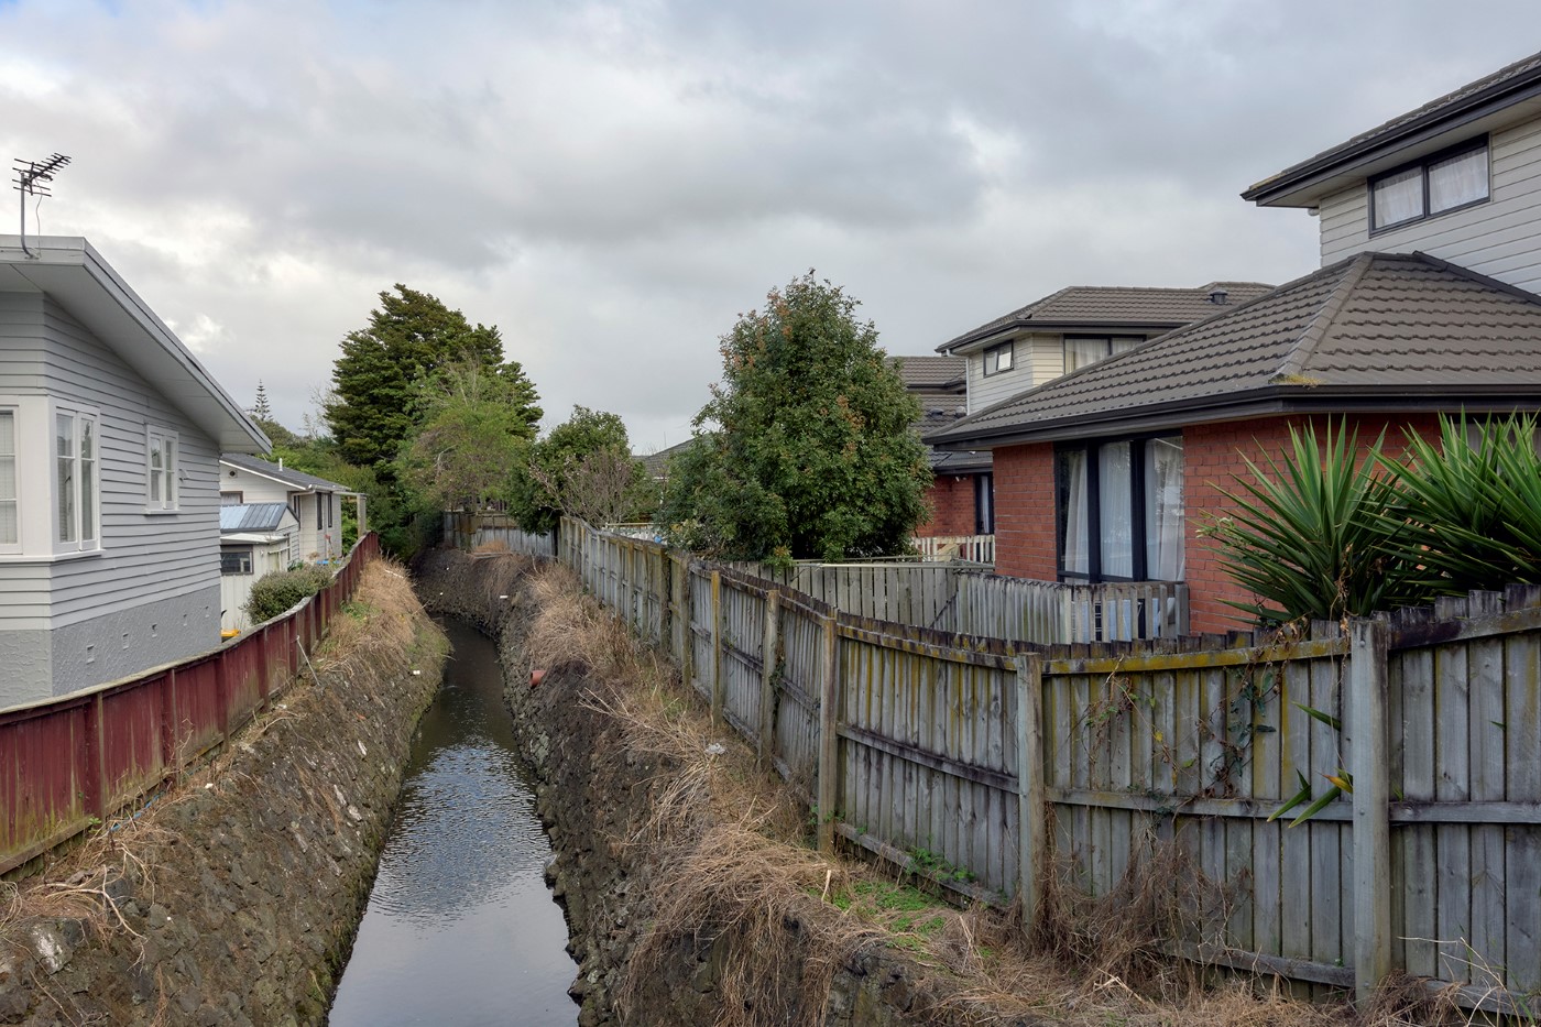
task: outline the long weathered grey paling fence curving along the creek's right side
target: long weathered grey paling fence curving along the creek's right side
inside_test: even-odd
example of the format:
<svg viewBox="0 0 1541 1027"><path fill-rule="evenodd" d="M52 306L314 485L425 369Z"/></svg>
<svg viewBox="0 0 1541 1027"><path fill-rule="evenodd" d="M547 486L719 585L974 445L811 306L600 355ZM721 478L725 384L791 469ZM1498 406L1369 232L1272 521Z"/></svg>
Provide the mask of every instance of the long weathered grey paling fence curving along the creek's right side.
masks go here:
<svg viewBox="0 0 1541 1027"><path fill-rule="evenodd" d="M1490 1010L1541 993L1541 591L1350 637L1034 646L573 521L561 558L807 786L826 845L1029 918L1049 874L1114 902L1165 887L1180 953L1305 993L1392 968ZM1351 793L1270 820L1327 776Z"/></svg>

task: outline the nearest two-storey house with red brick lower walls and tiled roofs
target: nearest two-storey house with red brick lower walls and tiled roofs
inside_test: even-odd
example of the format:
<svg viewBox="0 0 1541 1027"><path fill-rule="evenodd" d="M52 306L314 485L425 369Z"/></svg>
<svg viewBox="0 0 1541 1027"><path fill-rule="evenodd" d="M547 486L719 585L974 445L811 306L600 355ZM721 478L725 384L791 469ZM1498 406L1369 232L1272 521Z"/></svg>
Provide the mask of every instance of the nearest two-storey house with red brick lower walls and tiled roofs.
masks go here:
<svg viewBox="0 0 1541 1027"><path fill-rule="evenodd" d="M1244 456L1541 409L1538 100L1541 56L1281 171L1244 196L1319 211L1321 270L931 435L994 453L997 571L1187 581L1193 631L1234 628L1199 530Z"/></svg>

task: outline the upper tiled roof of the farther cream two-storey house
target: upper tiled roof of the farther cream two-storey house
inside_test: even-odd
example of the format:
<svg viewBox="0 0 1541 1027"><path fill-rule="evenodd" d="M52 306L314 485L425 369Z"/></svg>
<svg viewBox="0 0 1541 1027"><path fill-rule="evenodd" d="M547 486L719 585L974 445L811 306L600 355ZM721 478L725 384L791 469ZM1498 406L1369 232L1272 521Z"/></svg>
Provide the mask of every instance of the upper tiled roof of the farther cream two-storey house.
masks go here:
<svg viewBox="0 0 1541 1027"><path fill-rule="evenodd" d="M1264 282L1210 282L1197 288L1143 288L1113 285L1071 285L1026 307L988 321L943 342L938 353L951 353L1008 328L1176 328L1207 318L1220 307L1210 296L1225 291L1225 305L1247 302L1271 285Z"/></svg>

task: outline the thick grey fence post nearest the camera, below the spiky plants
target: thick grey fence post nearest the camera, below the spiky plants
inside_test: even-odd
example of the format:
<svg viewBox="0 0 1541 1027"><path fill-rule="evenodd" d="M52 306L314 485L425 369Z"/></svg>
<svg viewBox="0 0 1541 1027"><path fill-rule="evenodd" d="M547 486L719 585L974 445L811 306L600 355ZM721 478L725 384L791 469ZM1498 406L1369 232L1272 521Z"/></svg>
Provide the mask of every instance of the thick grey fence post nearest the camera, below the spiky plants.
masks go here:
<svg viewBox="0 0 1541 1027"><path fill-rule="evenodd" d="M1392 971L1392 817L1387 780L1385 623L1355 618L1348 728L1353 753L1353 973L1364 1008Z"/></svg>

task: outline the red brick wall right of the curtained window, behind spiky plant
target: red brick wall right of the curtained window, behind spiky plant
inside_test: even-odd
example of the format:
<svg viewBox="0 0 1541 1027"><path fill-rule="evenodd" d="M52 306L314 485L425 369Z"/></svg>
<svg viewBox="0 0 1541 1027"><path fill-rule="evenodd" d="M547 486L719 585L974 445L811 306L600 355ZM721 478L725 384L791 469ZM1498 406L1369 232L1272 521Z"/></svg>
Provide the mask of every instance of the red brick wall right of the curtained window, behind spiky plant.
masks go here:
<svg viewBox="0 0 1541 1027"><path fill-rule="evenodd" d="M1304 421L1305 418L1264 418L1183 429L1188 623L1193 631L1230 631L1244 626L1237 620L1241 614L1224 600L1245 601L1251 597L1231 581L1213 543L1199 538L1197 530L1236 509L1231 500L1220 495L1220 489L1237 490L1236 476L1247 475L1242 456L1251 458L1259 466L1264 466L1265 456L1281 460L1290 447L1290 424ZM1325 423L1318 418L1314 424L1321 436ZM1408 424L1430 441L1438 438L1439 419L1430 415L1350 419L1348 429L1358 427L1361 446L1375 443L1381 429L1387 429L1385 450L1398 455L1402 450L1402 427Z"/></svg>

